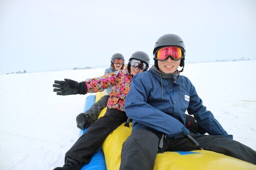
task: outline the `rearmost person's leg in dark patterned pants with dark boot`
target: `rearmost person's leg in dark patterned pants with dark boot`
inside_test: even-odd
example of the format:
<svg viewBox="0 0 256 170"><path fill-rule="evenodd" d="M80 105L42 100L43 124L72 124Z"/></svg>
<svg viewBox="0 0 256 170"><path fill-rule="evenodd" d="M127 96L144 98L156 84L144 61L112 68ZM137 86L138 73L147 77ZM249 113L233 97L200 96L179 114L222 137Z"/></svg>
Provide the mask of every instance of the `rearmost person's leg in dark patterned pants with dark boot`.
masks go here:
<svg viewBox="0 0 256 170"><path fill-rule="evenodd" d="M77 128L84 130L88 128L98 118L99 113L106 107L109 95L102 96L96 103L94 103L84 113L80 113L76 117Z"/></svg>

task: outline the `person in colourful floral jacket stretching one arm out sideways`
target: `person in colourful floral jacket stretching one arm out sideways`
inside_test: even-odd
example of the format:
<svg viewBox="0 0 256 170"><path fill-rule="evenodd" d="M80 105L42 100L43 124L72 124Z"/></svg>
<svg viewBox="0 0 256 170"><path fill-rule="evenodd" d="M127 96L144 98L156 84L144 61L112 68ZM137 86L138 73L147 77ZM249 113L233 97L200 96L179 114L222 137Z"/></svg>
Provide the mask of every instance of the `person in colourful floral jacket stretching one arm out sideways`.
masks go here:
<svg viewBox="0 0 256 170"><path fill-rule="evenodd" d="M127 120L124 101L130 89L131 80L136 74L146 71L148 66L149 56L145 52L136 51L131 55L127 69L86 79L80 83L70 79L54 81L53 91L57 92L57 95L95 93L112 87L104 116L91 124L67 151L63 167L57 167L54 170L80 170L83 164L90 162L106 137Z"/></svg>

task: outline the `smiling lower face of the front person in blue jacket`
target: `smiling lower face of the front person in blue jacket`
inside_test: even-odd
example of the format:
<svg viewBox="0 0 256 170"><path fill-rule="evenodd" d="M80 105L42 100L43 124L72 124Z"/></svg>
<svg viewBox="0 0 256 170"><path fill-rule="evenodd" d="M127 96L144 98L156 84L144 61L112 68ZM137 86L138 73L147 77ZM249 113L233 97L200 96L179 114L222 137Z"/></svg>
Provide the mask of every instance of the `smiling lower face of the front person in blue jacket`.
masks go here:
<svg viewBox="0 0 256 170"><path fill-rule="evenodd" d="M180 64L180 60L175 61L175 60L172 60L170 57L168 57L164 61L157 61L157 62L158 62L159 69L165 74L174 73Z"/></svg>

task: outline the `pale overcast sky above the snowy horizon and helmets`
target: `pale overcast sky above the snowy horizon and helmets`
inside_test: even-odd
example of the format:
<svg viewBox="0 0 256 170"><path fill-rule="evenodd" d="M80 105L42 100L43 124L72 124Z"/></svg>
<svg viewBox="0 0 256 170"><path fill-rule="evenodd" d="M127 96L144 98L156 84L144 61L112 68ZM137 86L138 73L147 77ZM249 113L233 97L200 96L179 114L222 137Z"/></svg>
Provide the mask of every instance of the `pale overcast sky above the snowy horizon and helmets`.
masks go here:
<svg viewBox="0 0 256 170"><path fill-rule="evenodd" d="M185 62L255 60L256 0L0 0L0 74L152 58L165 33L183 39Z"/></svg>

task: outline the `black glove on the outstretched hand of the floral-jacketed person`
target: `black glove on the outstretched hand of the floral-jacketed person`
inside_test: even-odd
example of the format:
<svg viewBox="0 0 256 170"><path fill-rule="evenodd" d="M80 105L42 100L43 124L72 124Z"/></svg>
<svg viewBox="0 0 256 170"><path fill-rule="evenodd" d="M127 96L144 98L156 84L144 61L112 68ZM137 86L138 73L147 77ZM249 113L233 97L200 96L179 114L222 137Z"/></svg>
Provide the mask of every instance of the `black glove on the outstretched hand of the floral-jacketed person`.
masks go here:
<svg viewBox="0 0 256 170"><path fill-rule="evenodd" d="M65 81L55 80L52 86L56 87L53 92L57 92L57 95L72 95L72 94L86 94L87 86L84 81L78 83L77 81L64 79Z"/></svg>

